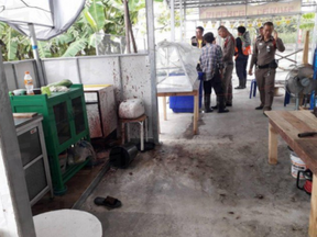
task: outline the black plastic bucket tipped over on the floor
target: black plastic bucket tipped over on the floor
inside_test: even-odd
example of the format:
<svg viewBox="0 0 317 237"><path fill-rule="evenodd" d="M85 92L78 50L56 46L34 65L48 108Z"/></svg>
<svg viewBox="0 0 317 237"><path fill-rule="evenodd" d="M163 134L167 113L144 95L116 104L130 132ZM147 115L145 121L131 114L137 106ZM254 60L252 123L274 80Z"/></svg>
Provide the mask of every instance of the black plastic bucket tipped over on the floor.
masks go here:
<svg viewBox="0 0 317 237"><path fill-rule="evenodd" d="M128 143L113 147L109 155L110 165L118 168L127 168L136 155L138 148L134 144Z"/></svg>

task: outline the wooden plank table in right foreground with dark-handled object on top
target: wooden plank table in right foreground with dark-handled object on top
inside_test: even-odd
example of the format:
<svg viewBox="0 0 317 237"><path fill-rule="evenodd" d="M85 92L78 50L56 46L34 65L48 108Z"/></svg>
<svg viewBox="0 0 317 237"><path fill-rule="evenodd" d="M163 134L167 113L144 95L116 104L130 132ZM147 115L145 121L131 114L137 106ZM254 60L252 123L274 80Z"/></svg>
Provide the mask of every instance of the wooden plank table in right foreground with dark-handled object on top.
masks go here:
<svg viewBox="0 0 317 237"><path fill-rule="evenodd" d="M299 138L298 133L317 132L317 117L309 111L267 111L269 163L277 163L277 135L313 171L309 236L317 237L317 135Z"/></svg>

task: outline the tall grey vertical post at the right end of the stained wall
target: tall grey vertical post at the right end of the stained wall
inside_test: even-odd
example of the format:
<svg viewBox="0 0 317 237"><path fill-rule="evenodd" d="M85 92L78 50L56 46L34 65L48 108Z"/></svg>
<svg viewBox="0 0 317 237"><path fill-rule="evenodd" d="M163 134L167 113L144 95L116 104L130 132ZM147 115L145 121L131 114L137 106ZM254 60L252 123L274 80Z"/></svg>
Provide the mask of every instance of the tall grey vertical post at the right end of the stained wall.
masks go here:
<svg viewBox="0 0 317 237"><path fill-rule="evenodd" d="M152 132L154 143L158 143L158 106L156 91L156 61L155 61L155 33L154 33L154 9L153 0L145 1L146 7L146 29L147 29L147 47L149 64L151 74L151 105L152 105ZM151 125L150 125L151 127Z"/></svg>

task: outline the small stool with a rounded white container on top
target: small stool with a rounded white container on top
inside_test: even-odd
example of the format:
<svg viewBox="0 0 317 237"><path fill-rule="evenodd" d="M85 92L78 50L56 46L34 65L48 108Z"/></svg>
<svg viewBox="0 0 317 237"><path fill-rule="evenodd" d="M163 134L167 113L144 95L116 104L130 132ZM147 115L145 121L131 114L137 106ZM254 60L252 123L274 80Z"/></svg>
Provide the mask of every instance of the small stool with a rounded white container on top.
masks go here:
<svg viewBox="0 0 317 237"><path fill-rule="evenodd" d="M136 119L121 119L120 120L121 123L121 143L122 145L124 144L125 140L125 123L128 126L128 142L130 142L130 127L129 127L129 123L139 123L140 124L140 143L141 143L141 150L144 150L144 125L145 125L145 140L147 142L147 120L146 120L146 115L143 114L140 117Z"/></svg>

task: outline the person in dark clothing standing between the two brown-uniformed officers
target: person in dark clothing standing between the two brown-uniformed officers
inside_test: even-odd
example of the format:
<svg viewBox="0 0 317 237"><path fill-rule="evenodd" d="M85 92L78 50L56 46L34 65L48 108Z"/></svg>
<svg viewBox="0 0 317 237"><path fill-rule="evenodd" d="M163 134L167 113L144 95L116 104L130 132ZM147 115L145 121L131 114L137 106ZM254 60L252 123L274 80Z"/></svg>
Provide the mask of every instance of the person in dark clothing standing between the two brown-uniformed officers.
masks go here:
<svg viewBox="0 0 317 237"><path fill-rule="evenodd" d="M243 48L243 34L245 33L244 26L238 27L238 37L236 38L236 71L239 78L239 87L234 89L244 89L247 84L247 65L249 59L249 52ZM245 47L245 46L244 46Z"/></svg>

